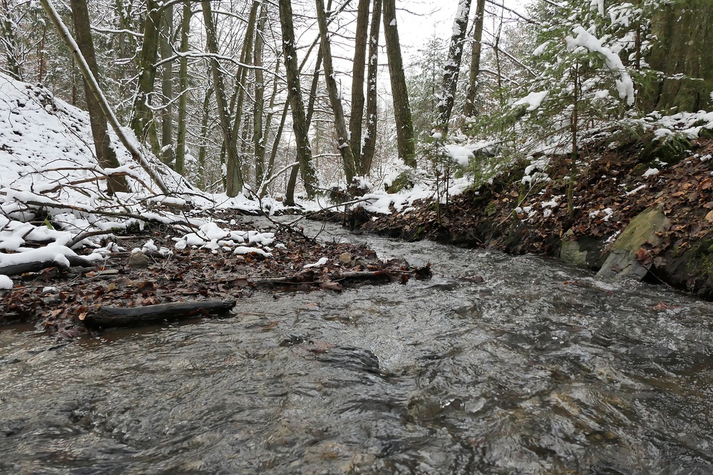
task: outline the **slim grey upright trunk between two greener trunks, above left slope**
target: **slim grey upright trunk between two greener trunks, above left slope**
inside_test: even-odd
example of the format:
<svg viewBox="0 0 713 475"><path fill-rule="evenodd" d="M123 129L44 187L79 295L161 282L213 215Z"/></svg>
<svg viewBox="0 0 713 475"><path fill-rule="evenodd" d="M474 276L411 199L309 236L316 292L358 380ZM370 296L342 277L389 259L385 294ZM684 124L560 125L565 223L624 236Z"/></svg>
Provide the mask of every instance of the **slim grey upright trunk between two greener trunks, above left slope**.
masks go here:
<svg viewBox="0 0 713 475"><path fill-rule="evenodd" d="M161 58L173 56L173 4L167 3L163 9L162 34L160 36ZM173 164L175 150L173 145L173 61L163 64L161 71L161 160ZM175 167L175 165L172 165Z"/></svg>

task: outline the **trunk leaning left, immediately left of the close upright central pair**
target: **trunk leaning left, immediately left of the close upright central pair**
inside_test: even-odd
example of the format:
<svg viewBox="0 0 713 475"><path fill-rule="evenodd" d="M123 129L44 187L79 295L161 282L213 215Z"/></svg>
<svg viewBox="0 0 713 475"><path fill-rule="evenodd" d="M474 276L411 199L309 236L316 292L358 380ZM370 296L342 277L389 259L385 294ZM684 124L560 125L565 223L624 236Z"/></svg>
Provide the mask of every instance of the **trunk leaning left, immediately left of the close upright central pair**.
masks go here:
<svg viewBox="0 0 713 475"><path fill-rule="evenodd" d="M337 131L337 148L342 155L344 162L344 175L347 179L347 189L352 186L352 179L356 176L354 166L354 155L352 147L349 145L349 131L347 121L344 118L344 108L342 100L339 98L339 87L334 79L334 66L332 66L332 46L327 31L327 14L324 12L324 1L315 0L317 5L317 23L319 24L319 34L322 36L322 63L324 65L324 81L327 83L327 93L329 103L334 111L334 127ZM362 79L363 80L363 79Z"/></svg>

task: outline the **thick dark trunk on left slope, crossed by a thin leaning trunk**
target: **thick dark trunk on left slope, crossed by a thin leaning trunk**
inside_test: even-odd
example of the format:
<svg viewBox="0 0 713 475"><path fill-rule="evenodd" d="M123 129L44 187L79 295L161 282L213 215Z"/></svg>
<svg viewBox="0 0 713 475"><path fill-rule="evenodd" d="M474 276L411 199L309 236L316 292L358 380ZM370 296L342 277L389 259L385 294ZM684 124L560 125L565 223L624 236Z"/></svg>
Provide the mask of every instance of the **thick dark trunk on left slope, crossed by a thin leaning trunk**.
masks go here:
<svg viewBox="0 0 713 475"><path fill-rule="evenodd" d="M86 0L71 0L71 9L74 19L74 34L77 37L79 51L81 51L82 56L84 56L87 66L89 66L89 71L91 71L92 75L96 78L99 68L96 64L96 53L91 37L89 11L87 9ZM84 93L86 95L96 158L102 168L116 168L119 166L119 161L116 159L116 152L111 148L106 118L101 110L99 101L94 97L86 81L84 82ZM107 179L107 186L110 194L129 191L128 184L124 177L109 177Z"/></svg>

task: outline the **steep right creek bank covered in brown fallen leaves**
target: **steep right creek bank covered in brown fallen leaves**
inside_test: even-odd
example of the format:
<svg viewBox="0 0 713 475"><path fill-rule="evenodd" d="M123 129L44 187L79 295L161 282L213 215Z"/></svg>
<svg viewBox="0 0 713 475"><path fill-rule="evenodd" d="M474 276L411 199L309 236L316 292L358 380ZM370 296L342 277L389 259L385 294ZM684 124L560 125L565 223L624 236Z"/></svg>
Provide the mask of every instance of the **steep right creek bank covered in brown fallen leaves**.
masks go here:
<svg viewBox="0 0 713 475"><path fill-rule="evenodd" d="M550 157L540 181L515 164L447 204L421 201L389 215L359 207L343 221L409 241L555 256L602 278L666 283L713 300L713 140L695 140L666 166L632 145L599 150L575 167Z"/></svg>

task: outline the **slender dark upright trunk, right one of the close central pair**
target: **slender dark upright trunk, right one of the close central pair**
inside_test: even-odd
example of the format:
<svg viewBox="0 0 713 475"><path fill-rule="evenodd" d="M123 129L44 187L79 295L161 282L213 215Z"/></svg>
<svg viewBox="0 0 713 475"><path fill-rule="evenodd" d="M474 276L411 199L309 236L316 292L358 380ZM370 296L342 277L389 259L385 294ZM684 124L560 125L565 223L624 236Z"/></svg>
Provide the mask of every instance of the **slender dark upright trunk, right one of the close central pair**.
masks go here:
<svg viewBox="0 0 713 475"><path fill-rule="evenodd" d="M381 0L374 0L371 9L369 27L369 71L366 73L366 134L364 150L361 155L361 175L371 172L371 163L376 151L376 122L378 95L376 93L376 75L379 71L379 24L381 24Z"/></svg>

